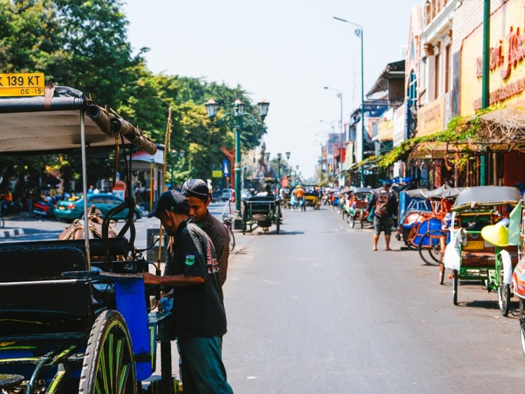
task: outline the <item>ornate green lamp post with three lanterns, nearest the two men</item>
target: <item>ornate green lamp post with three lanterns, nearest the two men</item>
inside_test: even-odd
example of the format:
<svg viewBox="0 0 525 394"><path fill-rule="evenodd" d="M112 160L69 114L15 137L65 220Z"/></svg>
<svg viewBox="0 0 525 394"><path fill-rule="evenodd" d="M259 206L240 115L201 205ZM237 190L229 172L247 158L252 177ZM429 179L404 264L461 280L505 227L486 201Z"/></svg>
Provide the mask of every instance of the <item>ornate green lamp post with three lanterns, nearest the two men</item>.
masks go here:
<svg viewBox="0 0 525 394"><path fill-rule="evenodd" d="M257 103L259 108L259 116L261 123L257 122L255 117L249 112L244 113L244 104L241 100L235 100L233 104L234 112L226 112L217 123L225 122L227 126L232 127L235 131L235 218L234 218L234 228L238 230L241 228L241 129L249 126L251 124L260 126L265 122L265 117L268 114L268 107L270 103L266 100L262 100L260 103ZM213 119L217 115L218 103L215 103L215 100L211 98L206 103L206 111L208 112L208 117Z"/></svg>

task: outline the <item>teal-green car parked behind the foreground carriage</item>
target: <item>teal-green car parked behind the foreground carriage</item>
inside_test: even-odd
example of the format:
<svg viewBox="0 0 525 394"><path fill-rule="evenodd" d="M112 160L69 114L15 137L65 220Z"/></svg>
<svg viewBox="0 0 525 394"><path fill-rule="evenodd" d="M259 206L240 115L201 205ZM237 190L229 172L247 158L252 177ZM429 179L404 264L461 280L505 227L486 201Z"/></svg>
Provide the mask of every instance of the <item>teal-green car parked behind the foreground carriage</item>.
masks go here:
<svg viewBox="0 0 525 394"><path fill-rule="evenodd" d="M124 202L120 197L111 195L109 193L88 194L88 206L95 205L102 213L102 216ZM62 221L74 221L79 219L84 214L84 197L74 199L73 201L60 201L57 207L53 210L55 218ZM128 209L119 212L112 217L114 221L124 220L128 216ZM135 220L142 218L142 211L138 206L135 206Z"/></svg>

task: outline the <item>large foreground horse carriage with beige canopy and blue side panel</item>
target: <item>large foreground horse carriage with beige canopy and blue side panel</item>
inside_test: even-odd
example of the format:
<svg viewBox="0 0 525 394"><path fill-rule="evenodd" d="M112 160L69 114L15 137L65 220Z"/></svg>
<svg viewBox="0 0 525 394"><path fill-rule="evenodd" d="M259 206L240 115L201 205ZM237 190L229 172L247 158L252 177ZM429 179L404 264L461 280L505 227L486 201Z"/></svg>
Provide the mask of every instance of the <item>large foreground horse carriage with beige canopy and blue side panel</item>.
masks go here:
<svg viewBox="0 0 525 394"><path fill-rule="evenodd" d="M157 150L140 129L64 86L48 84L43 96L0 97L0 119L0 155L80 150L84 175L88 157L115 148L116 140L121 150L129 142L149 154ZM109 211L102 239L89 239L86 226L85 239L0 244L1 393L174 392L171 354L161 351L161 376L154 376L157 328L168 313L149 308L159 289L145 287L140 275L149 263L133 245L134 207L126 196ZM124 209L124 228L109 239L112 215Z"/></svg>

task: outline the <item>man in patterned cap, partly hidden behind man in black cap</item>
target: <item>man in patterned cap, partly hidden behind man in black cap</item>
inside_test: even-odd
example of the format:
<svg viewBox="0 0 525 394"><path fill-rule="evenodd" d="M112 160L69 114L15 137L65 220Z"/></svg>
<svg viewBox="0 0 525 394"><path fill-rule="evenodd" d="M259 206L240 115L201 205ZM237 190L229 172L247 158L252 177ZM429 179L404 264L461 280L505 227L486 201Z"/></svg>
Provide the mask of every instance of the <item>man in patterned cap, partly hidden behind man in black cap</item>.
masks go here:
<svg viewBox="0 0 525 394"><path fill-rule="evenodd" d="M220 285L226 282L228 258L230 257L230 234L225 225L210 214L208 205L211 194L202 179L188 179L182 185L182 195L190 203L190 217L211 238L219 267Z"/></svg>

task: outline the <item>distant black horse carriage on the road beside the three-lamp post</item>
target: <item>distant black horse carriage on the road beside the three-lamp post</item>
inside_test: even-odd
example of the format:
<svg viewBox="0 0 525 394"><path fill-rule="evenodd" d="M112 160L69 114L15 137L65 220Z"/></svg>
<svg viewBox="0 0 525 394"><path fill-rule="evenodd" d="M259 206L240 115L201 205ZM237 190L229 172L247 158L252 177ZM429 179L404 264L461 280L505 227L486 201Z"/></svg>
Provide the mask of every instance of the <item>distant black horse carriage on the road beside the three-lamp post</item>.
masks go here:
<svg viewBox="0 0 525 394"><path fill-rule="evenodd" d="M272 225L275 225L275 232L279 234L283 217L281 201L274 193L277 185L279 185L279 180L251 178L250 182L260 185L262 191L242 201L242 233L253 232L255 226L262 228L263 232L267 232Z"/></svg>

